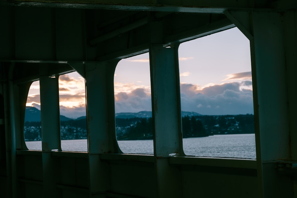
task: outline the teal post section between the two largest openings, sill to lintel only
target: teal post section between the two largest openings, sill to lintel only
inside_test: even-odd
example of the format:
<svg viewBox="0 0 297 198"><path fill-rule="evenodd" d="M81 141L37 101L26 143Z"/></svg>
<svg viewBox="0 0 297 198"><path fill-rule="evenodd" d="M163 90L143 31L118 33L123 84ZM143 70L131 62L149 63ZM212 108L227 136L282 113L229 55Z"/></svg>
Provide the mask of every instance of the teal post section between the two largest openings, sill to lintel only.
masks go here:
<svg viewBox="0 0 297 198"><path fill-rule="evenodd" d="M181 133L181 99L178 47L151 45L151 95L154 122L154 154L184 155Z"/></svg>

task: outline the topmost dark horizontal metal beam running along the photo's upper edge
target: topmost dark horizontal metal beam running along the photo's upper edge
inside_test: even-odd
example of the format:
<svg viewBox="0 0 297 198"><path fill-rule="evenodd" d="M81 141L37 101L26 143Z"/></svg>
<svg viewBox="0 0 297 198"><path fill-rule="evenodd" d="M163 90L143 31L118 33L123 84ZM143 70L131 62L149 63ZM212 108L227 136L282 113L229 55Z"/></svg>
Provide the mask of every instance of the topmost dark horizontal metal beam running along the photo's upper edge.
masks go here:
<svg viewBox="0 0 297 198"><path fill-rule="evenodd" d="M223 13L226 9L247 9L254 8L252 1L151 1L151 0L2 0L2 4L13 4L17 6L45 6L45 7L69 7L69 8L97 8L117 10L143 10L162 12L200 12L200 13Z"/></svg>

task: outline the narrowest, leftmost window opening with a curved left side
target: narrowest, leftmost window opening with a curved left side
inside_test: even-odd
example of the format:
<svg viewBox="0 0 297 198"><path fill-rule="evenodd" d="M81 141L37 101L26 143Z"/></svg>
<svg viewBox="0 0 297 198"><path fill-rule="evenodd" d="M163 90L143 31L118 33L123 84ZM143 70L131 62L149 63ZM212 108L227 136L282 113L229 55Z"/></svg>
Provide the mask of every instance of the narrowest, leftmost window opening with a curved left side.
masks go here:
<svg viewBox="0 0 297 198"><path fill-rule="evenodd" d="M24 138L29 150L42 150L39 80L31 84L26 102Z"/></svg>

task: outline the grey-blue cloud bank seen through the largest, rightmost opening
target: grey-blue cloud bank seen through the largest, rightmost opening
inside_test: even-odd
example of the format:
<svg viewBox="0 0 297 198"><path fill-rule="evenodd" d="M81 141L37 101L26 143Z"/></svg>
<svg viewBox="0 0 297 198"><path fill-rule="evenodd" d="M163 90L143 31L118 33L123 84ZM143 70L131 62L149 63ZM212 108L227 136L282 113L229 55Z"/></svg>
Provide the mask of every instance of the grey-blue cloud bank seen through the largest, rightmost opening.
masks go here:
<svg viewBox="0 0 297 198"><path fill-rule="evenodd" d="M181 108L203 115L254 113L253 92L240 89L237 82L197 89L197 85L181 86Z"/></svg>

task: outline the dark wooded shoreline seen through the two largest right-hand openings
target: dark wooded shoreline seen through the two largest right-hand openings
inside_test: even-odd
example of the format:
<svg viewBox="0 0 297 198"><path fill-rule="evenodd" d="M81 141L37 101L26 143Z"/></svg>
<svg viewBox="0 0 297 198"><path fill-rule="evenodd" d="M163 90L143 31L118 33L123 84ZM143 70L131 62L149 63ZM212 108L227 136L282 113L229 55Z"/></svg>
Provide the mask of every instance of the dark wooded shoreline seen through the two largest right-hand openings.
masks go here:
<svg viewBox="0 0 297 198"><path fill-rule="evenodd" d="M181 120L183 138L255 133L252 114L185 116ZM152 139L152 118L116 118L116 135L118 140Z"/></svg>

